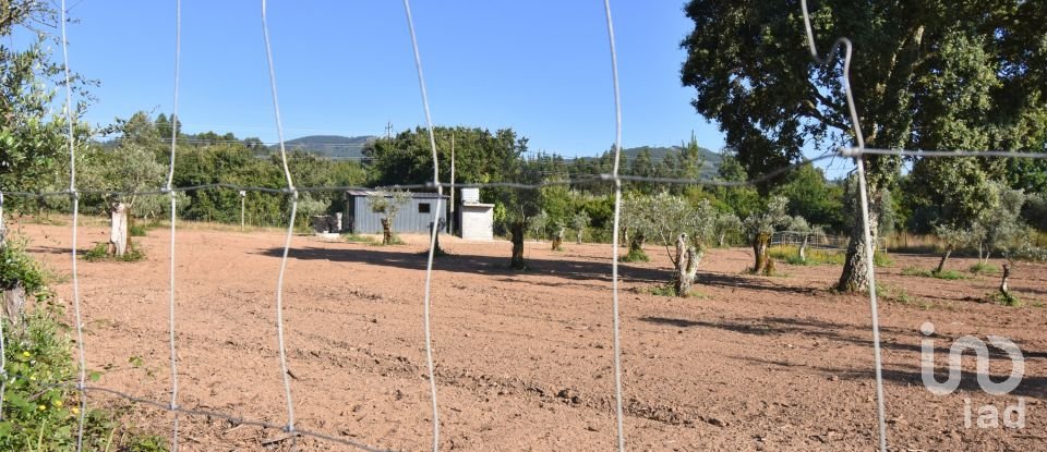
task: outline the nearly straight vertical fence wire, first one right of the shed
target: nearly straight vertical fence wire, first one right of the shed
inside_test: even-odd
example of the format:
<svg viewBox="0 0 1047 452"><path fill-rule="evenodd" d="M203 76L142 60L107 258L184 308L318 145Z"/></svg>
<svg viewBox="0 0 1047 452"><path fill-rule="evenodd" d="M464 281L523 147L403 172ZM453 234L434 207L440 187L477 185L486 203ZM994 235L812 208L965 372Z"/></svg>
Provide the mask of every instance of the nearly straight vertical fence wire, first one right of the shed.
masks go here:
<svg viewBox="0 0 1047 452"><path fill-rule="evenodd" d="M618 180L618 161L622 159L622 96L618 91L618 53L614 47L614 22L611 20L611 0L603 1L607 20L607 40L611 45L611 77L614 83L614 232L611 234L611 315L614 340L614 416L617 447L625 451L625 428L622 411L622 340L618 316L618 229L622 221L622 181Z"/></svg>

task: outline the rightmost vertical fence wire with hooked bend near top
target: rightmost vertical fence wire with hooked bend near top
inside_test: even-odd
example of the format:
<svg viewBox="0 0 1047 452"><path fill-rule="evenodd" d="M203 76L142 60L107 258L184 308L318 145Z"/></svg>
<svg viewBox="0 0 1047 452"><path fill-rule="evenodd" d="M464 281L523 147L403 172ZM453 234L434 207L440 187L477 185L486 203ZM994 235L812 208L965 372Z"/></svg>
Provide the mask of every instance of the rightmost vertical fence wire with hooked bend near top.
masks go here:
<svg viewBox="0 0 1047 452"><path fill-rule="evenodd" d="M864 237L865 246L865 271L866 271L866 281L868 282L868 292L869 292L869 310L871 311L871 328L872 328L872 356L874 356L874 367L876 374L876 412L877 412L877 427L879 430L879 449L880 452L887 452L887 422L886 422L886 404L883 402L883 362L882 354L880 351L880 320L879 320L879 308L878 301L876 295L876 274L874 269L874 249L872 249L872 232L869 229L869 200L868 193L866 187L866 178L865 178L865 156L862 155L862 150L865 148L865 137L862 135L862 123L858 119L858 110L854 102L854 93L851 89L851 54L853 46L851 40L841 37L838 38L833 44L832 48L829 50L828 56L825 59L821 59L818 56L818 48L815 45L815 34L810 26L810 15L807 13L807 0L801 0L801 9L804 13L804 27L807 32L807 42L810 48L811 58L820 63L828 65L831 63L833 58L840 50L840 47L844 49L843 58L843 89L844 95L847 100L847 110L851 113L851 124L854 132L855 144L857 145L857 155L854 157L855 166L857 166L858 173L858 198L862 203L862 233Z"/></svg>

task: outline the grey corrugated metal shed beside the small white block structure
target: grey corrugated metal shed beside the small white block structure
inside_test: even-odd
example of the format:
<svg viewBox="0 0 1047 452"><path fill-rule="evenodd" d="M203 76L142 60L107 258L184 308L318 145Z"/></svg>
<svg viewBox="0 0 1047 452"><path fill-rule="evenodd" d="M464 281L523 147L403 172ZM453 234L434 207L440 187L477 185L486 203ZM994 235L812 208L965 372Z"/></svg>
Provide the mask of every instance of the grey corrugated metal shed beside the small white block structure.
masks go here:
<svg viewBox="0 0 1047 452"><path fill-rule="evenodd" d="M371 208L368 195L371 191L350 190L346 192L346 232L357 234L377 234L382 232L382 212ZM433 221L433 210L436 209L437 197L440 203L440 219L447 221L447 195L435 193L408 193L410 199L393 220L393 231L397 233L429 233L429 223Z"/></svg>

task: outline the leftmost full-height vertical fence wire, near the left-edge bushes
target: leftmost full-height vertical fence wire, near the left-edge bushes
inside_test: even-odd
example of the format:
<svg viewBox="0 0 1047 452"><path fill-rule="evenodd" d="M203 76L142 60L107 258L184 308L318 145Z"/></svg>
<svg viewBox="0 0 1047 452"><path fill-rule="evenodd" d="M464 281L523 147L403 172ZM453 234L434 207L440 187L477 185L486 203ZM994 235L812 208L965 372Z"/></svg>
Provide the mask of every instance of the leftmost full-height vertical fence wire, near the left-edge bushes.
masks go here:
<svg viewBox="0 0 1047 452"><path fill-rule="evenodd" d="M80 194L76 193L76 150L73 137L73 86L69 73L69 40L65 34L65 0L61 3L62 70L65 75L65 131L69 142L69 195L73 201L73 239L70 249L73 272L73 316L76 322L76 349L80 354L80 418L76 426L76 451L84 450L84 422L87 416L87 359L84 352L84 321L80 309L80 278L76 271L76 223L80 220Z"/></svg>

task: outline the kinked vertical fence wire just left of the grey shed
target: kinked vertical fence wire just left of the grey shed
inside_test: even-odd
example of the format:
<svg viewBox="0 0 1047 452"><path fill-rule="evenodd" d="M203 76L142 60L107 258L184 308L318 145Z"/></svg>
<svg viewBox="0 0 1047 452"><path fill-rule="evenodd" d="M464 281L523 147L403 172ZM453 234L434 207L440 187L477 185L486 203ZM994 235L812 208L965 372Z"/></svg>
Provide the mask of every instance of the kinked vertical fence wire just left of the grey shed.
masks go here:
<svg viewBox="0 0 1047 452"><path fill-rule="evenodd" d="M262 0L262 35L265 40L265 58L269 68L269 88L273 93L273 112L276 117L276 134L280 144L280 161L284 163L284 175L287 178L287 192L291 198L291 216L287 224L287 235L284 240L284 255L280 257L280 272L276 280L276 337L280 355L280 377L284 379L284 400L287 402L287 432L294 433L294 403L291 399L291 380L287 370L287 350L284 342L284 274L287 271L287 255L291 248L291 237L294 234L294 215L298 211L298 191L291 181L291 171L287 166L287 151L284 146L284 125L280 121L280 102L276 91L276 69L273 64L273 49L269 45L269 25L266 15L266 0ZM297 435L292 436L291 449L294 448Z"/></svg>

